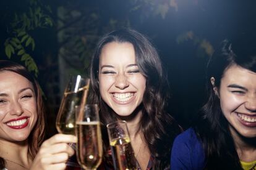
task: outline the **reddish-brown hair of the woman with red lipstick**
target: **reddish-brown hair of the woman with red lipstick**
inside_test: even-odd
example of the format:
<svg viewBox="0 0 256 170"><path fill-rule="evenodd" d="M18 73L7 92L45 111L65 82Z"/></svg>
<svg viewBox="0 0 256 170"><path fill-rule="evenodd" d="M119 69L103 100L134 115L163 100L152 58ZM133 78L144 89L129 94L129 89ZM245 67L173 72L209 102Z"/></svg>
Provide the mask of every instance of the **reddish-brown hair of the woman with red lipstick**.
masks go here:
<svg viewBox="0 0 256 170"><path fill-rule="evenodd" d="M35 123L35 127L33 127L30 135L28 136L28 156L33 160L45 137L45 108L43 105L40 86L35 78L30 74L30 72L18 63L7 60L0 60L0 72L2 71L12 71L14 73L17 73L24 78L27 78L33 84L36 95L36 107L38 114L38 119ZM4 168L4 166L4 158L0 157L0 168L2 169Z"/></svg>

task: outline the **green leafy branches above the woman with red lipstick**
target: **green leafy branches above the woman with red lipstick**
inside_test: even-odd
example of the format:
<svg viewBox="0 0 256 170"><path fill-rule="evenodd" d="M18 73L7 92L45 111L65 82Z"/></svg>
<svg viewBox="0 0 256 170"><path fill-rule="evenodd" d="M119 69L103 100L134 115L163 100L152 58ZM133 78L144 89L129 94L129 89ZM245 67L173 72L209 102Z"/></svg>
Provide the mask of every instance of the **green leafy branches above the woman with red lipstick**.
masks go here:
<svg viewBox="0 0 256 170"><path fill-rule="evenodd" d="M27 9L22 12L15 12L11 22L9 38L4 42L5 53L9 59L12 55L21 57L25 62L28 71L33 71L38 75L38 67L32 57L35 50L35 38L32 31L39 28L48 28L53 26L53 19L48 15L51 12L49 6L43 5L39 0L30 0L27 2Z"/></svg>

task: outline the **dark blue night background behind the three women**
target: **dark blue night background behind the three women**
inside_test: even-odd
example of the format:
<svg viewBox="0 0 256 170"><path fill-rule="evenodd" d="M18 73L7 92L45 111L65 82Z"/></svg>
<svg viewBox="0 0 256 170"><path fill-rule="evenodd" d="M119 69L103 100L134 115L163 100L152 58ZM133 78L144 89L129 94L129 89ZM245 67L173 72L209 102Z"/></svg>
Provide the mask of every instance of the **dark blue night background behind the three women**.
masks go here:
<svg viewBox="0 0 256 170"><path fill-rule="evenodd" d="M171 99L168 111L184 129L205 102L205 66L224 38L255 33L255 1L239 0L97 0L1 1L0 59L26 65L20 49L6 55L8 39L23 29L35 41L23 47L38 67L45 93L48 136L56 132L63 88L70 74L88 74L95 43L103 34L124 26L150 38L168 71ZM31 14L40 7L40 14ZM15 23L15 14L19 23ZM23 14L30 20L30 28ZM35 18L40 26L35 26ZM46 18L50 22L46 22ZM27 63L27 67L31 62ZM33 67L32 67L33 68ZM33 73L33 69L31 69Z"/></svg>

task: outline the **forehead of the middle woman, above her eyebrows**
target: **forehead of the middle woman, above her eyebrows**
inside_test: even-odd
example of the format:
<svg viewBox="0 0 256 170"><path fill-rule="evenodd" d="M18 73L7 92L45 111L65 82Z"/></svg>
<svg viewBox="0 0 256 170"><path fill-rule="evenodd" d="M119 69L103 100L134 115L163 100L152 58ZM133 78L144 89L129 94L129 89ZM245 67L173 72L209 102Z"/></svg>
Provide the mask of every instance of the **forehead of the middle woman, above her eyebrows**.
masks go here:
<svg viewBox="0 0 256 170"><path fill-rule="evenodd" d="M134 46L130 42L109 42L100 54L101 65L129 65L136 63Z"/></svg>

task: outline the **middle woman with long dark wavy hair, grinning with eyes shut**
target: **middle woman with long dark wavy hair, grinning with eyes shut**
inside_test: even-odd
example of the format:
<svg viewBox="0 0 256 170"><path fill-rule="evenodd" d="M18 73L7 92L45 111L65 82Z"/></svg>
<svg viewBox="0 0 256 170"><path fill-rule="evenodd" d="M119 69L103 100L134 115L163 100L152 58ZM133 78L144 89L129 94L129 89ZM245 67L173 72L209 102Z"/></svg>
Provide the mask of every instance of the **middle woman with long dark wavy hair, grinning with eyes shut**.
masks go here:
<svg viewBox="0 0 256 170"><path fill-rule="evenodd" d="M155 47L135 30L108 33L96 46L90 78L103 124L103 164L113 164L106 124L125 120L139 169L169 169L181 127L164 111L168 82Z"/></svg>

